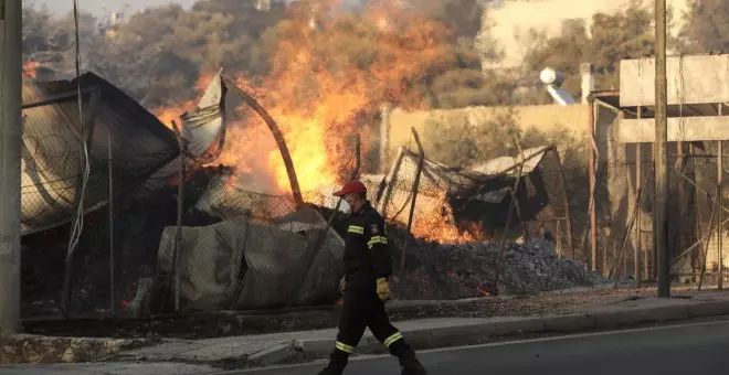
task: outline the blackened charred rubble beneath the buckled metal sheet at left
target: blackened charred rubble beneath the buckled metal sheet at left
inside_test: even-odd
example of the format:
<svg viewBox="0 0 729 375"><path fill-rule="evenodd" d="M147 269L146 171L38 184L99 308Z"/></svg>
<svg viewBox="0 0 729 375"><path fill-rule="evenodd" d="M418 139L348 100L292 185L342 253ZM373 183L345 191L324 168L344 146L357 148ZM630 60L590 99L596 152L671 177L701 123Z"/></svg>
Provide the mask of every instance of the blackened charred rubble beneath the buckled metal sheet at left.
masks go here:
<svg viewBox="0 0 729 375"><path fill-rule="evenodd" d="M205 167L190 172L186 179L183 219L186 226L197 227L220 223L221 219L196 208L210 180L226 167ZM165 227L177 223L177 181L144 199L118 204L114 217L115 280L117 310L124 309L137 291L138 281L157 274L157 254ZM60 312L65 254L70 225L23 236L22 313L24 317L52 315ZM72 311L85 314L110 308L109 232L105 211L87 214L84 234L77 246L72 275ZM102 311L99 311L102 310Z"/></svg>

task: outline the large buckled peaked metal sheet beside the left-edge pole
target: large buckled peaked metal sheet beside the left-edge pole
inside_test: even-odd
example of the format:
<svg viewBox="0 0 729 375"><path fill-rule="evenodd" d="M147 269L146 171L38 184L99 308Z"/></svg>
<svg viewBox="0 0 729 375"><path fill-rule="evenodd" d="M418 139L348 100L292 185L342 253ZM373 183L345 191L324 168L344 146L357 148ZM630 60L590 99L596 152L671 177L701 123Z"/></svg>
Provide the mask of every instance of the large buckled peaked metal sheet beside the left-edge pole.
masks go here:
<svg viewBox="0 0 729 375"><path fill-rule="evenodd" d="M77 85L83 116L77 104ZM84 207L108 199L108 139L118 196L139 185L178 156L177 141L154 115L114 85L93 73L78 81L23 84L22 235L70 222L83 171L82 118L92 93L99 95L88 144L91 173Z"/></svg>

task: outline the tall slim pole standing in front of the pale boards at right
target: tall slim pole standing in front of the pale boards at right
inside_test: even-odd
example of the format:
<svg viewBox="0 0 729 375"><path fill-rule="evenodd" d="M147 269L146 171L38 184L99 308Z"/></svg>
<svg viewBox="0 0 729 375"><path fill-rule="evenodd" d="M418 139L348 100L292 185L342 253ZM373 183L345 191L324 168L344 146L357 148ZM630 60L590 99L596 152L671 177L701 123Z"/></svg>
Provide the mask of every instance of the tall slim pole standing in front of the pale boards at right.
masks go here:
<svg viewBox="0 0 729 375"><path fill-rule="evenodd" d="M655 178L656 178L656 267L658 271L658 297L670 298L669 280L669 256L668 249L668 156L666 142L668 141L668 120L666 107L668 97L666 94L666 0L656 0L656 149L655 149Z"/></svg>

